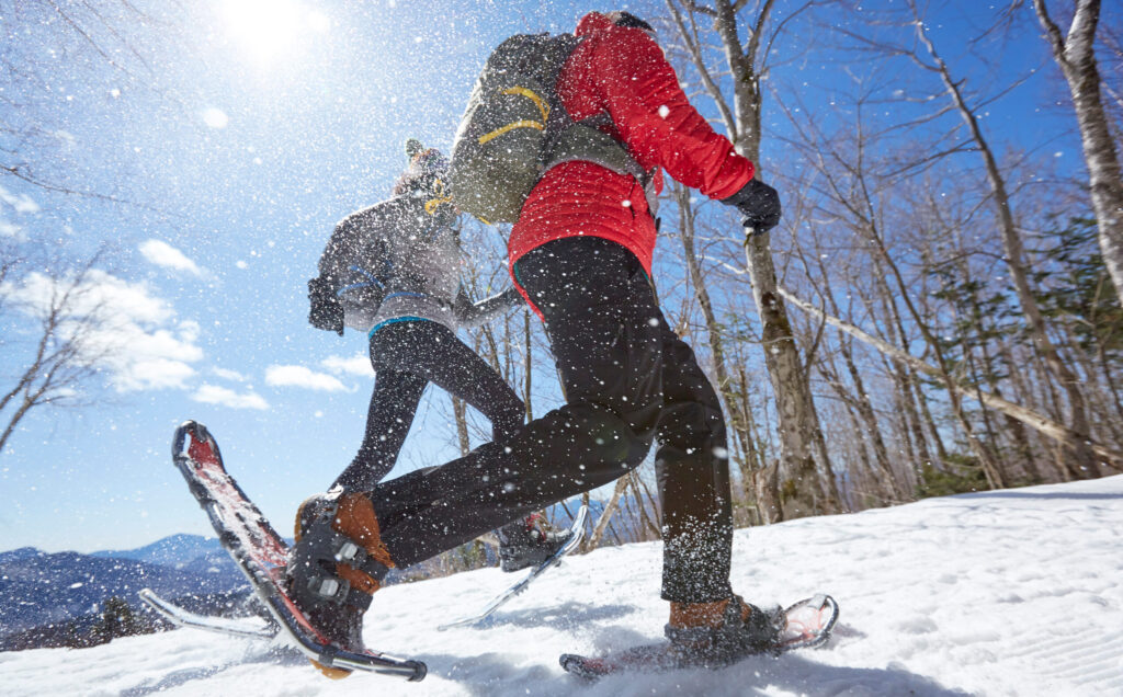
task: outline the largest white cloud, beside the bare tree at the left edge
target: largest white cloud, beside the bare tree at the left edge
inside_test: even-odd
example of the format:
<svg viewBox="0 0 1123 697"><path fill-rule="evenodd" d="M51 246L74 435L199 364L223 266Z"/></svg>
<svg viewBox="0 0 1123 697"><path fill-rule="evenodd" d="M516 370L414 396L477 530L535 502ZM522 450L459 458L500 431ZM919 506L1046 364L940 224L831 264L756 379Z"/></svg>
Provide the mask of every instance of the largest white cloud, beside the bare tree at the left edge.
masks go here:
<svg viewBox="0 0 1123 697"><path fill-rule="evenodd" d="M182 388L195 374L191 364L203 357L199 324L177 320L144 283L92 269L79 283L36 272L0 287L0 295L31 317L58 306L66 293L60 336L75 340L80 359L103 368L118 392Z"/></svg>

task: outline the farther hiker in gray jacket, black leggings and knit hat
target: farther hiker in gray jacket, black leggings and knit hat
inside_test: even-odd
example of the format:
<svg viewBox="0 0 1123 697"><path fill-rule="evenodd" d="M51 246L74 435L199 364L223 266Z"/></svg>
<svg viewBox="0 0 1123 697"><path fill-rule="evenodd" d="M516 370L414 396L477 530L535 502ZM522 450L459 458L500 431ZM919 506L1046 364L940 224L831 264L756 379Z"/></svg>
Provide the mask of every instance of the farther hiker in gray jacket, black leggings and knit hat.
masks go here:
<svg viewBox="0 0 1123 697"><path fill-rule="evenodd" d="M319 275L308 283L309 322L340 336L345 327L366 332L375 370L363 443L331 487L344 492L369 490L390 473L429 383L491 420L496 442L522 425L526 413L503 378L456 337L459 328L520 306L522 297L512 287L478 303L468 299L460 287L458 215L445 193L448 163L414 139L405 150L410 164L393 195L336 226ZM565 542L535 515L496 536L504 571L544 561Z"/></svg>

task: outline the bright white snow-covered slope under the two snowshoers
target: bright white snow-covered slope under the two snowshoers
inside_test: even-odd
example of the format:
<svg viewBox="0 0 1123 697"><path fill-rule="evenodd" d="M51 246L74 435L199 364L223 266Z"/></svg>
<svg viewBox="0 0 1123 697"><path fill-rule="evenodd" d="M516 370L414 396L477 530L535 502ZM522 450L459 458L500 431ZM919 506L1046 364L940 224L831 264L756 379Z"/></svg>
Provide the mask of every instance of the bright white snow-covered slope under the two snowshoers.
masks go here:
<svg viewBox="0 0 1123 697"><path fill-rule="evenodd" d="M0 653L9 695L1123 695L1123 476L970 494L737 533L756 603L831 593L827 648L586 685L557 663L661 636L659 545L574 558L483 627L439 632L511 583L484 569L381 590L366 641L420 684L322 678L267 642L197 630Z"/></svg>

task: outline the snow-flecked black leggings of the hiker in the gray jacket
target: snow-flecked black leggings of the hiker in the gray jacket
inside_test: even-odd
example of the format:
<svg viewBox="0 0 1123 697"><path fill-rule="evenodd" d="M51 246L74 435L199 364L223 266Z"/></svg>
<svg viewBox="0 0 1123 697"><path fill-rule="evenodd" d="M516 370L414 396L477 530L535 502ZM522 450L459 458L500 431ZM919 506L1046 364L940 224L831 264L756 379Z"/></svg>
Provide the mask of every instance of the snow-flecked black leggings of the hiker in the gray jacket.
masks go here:
<svg viewBox="0 0 1123 697"><path fill-rule="evenodd" d="M358 455L332 486L369 490L394 467L426 385L432 383L491 420L502 441L522 424L526 407L483 358L439 322L393 322L371 334L374 392Z"/></svg>

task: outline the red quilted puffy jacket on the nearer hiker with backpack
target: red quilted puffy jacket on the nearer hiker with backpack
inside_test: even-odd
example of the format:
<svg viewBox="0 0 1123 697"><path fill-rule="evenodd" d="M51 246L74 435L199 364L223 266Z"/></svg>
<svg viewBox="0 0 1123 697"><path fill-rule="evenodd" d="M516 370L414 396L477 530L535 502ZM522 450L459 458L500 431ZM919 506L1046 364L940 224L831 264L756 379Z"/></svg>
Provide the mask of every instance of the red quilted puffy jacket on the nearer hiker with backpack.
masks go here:
<svg viewBox="0 0 1123 697"><path fill-rule="evenodd" d="M642 29L618 27L590 12L575 34L584 40L557 83L574 120L606 112L611 135L645 169L661 167L711 199L732 195L752 178L752 163L691 107L663 49ZM656 177L661 190L658 172ZM623 245L650 275L655 220L634 177L579 161L551 168L530 192L511 230L511 268L531 249L578 235Z"/></svg>

